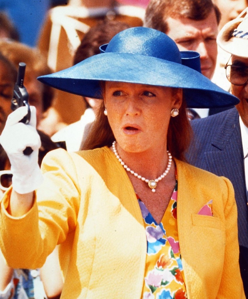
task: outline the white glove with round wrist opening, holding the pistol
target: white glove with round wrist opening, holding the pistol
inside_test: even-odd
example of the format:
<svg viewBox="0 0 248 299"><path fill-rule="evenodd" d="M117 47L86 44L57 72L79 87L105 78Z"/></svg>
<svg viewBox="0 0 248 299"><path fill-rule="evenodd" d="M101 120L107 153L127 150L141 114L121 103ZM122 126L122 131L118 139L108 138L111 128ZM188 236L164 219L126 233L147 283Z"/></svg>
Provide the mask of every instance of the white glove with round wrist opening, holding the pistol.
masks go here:
<svg viewBox="0 0 248 299"><path fill-rule="evenodd" d="M12 112L6 121L0 136L0 143L8 155L13 173L13 189L20 194L35 190L43 181L38 164L38 151L41 146L36 131L36 109L30 106L31 118L28 125L19 123L27 115L27 107L23 106ZM33 152L24 155L23 150L31 147Z"/></svg>

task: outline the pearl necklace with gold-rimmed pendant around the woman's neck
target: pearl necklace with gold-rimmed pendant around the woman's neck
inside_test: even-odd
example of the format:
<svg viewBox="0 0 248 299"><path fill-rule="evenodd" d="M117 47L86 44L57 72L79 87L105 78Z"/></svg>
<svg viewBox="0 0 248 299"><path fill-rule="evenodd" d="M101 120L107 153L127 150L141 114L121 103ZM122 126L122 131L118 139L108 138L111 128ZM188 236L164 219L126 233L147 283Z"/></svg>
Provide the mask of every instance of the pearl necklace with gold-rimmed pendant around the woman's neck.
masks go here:
<svg viewBox="0 0 248 299"><path fill-rule="evenodd" d="M166 175L167 173L169 172L170 168L171 168L171 165L172 165L172 155L169 151L167 151L167 154L168 154L168 164L167 164L167 167L166 167L166 170L163 174L161 174L161 176L159 176L157 179L155 180L149 180L149 179L146 179L144 178L143 176L140 176L139 174L137 174L136 172L134 172L133 170L131 170L123 161L122 159L120 158L120 155L118 154L117 152L117 149L116 149L116 141L113 142L112 144L112 147L113 147L113 152L116 156L116 158L118 159L118 161L120 162L120 164L125 168L126 171L130 172L132 175L134 175L136 178L140 179L141 181L144 181L148 184L148 186L151 188L151 192L155 192L156 191L156 187L157 187L157 183L159 181L161 181Z"/></svg>

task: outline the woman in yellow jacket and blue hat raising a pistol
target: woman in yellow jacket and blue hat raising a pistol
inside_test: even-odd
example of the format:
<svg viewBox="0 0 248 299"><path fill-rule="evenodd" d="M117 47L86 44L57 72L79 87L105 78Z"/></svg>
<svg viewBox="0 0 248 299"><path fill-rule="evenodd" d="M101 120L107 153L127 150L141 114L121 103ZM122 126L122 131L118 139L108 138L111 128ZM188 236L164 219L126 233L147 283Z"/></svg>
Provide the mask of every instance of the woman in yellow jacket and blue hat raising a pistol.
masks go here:
<svg viewBox="0 0 248 299"><path fill-rule="evenodd" d="M8 118L0 136L13 171L0 214L7 263L39 268L60 244L61 298L244 298L232 185L183 162L186 104L238 100L193 69L198 54L180 53L157 30L124 30L102 51L39 78L103 98L84 150L52 151L41 172L33 108L30 125L19 123L25 107Z"/></svg>

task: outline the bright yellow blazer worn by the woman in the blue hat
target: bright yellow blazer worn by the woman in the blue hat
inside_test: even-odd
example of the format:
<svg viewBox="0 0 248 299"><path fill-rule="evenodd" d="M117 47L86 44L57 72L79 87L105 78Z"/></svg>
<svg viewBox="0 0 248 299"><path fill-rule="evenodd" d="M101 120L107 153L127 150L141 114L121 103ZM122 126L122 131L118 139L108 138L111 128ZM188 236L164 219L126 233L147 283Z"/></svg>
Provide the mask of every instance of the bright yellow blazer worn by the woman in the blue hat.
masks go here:
<svg viewBox="0 0 248 299"><path fill-rule="evenodd" d="M238 265L237 209L228 179L175 160L177 218L189 299L245 298ZM13 268L39 268L56 244L62 299L140 299L146 233L133 186L107 147L50 152L37 201L10 216L1 201L0 245ZM213 216L198 215L210 200Z"/></svg>

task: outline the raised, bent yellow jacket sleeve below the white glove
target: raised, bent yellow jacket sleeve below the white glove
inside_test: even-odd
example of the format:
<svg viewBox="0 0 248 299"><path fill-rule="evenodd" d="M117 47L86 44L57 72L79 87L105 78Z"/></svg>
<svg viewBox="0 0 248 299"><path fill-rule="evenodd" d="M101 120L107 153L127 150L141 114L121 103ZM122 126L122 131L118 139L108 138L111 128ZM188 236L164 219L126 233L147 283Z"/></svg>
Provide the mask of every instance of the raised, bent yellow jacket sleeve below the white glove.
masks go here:
<svg viewBox="0 0 248 299"><path fill-rule="evenodd" d="M0 246L12 268L40 268L76 227L80 188L71 156L63 149L49 152L42 172L44 182L24 216L12 217L6 211L11 189L1 199Z"/></svg>

